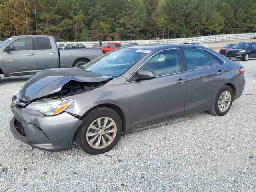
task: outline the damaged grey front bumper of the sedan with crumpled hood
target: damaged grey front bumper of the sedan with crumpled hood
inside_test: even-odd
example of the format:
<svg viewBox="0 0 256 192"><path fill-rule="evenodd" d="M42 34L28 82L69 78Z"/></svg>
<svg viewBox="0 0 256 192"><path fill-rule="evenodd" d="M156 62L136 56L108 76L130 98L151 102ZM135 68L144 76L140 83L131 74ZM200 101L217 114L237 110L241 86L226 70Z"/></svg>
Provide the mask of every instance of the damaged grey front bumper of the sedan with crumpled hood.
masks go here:
<svg viewBox="0 0 256 192"><path fill-rule="evenodd" d="M10 121L10 130L15 138L35 148L48 151L72 149L72 140L82 120L62 112L56 116L26 109L12 100L11 110L14 117Z"/></svg>

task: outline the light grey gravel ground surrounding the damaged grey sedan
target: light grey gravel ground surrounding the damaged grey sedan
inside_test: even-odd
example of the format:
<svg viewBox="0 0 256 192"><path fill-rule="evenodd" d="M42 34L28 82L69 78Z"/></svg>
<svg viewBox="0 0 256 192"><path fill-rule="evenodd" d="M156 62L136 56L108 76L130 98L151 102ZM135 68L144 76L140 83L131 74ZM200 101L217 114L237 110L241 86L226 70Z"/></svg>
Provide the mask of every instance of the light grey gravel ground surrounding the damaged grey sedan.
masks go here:
<svg viewBox="0 0 256 192"><path fill-rule="evenodd" d="M44 152L9 130L10 101L29 76L0 80L0 192L256 191L256 59L228 114L193 114L124 134L106 154Z"/></svg>

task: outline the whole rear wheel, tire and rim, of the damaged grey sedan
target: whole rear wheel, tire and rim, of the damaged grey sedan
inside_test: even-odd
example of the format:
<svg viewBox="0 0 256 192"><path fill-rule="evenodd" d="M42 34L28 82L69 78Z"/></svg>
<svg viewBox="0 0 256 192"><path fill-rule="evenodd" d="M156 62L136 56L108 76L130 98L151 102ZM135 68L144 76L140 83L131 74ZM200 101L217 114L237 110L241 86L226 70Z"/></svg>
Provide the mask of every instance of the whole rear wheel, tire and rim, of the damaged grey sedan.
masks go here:
<svg viewBox="0 0 256 192"><path fill-rule="evenodd" d="M224 85L216 94L212 108L208 112L216 116L225 115L230 110L233 99L232 89L230 86Z"/></svg>

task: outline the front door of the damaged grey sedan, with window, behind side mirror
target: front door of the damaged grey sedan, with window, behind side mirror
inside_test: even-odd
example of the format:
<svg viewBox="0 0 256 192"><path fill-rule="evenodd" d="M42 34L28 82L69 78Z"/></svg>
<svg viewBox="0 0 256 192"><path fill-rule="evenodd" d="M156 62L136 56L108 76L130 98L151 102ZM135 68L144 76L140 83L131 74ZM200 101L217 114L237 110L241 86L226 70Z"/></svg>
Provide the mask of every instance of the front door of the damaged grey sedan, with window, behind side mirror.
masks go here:
<svg viewBox="0 0 256 192"><path fill-rule="evenodd" d="M140 69L151 70L156 78L136 81L134 72L127 81L132 126L184 113L186 72L179 49L160 51Z"/></svg>

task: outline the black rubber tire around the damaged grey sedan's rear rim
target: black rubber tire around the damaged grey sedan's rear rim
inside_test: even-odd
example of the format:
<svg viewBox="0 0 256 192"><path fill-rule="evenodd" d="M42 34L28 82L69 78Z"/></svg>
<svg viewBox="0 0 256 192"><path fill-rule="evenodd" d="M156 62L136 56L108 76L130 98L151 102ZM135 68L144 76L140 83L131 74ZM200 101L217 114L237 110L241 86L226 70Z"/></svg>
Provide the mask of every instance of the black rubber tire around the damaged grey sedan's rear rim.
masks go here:
<svg viewBox="0 0 256 192"><path fill-rule="evenodd" d="M220 95L224 92L224 91L229 91L230 92L230 95L231 95L231 102L230 102L230 105L228 107L228 109L224 112L221 112L218 108L218 101L219 101L219 98L220 98ZM218 93L216 94L215 98L214 98L214 102L212 104L212 108L208 111L210 114L212 115L216 115L216 116L223 116L225 115L229 110L230 110L230 107L232 106L232 102L234 100L233 98L233 90L230 88L230 86L227 86L227 85L224 85L220 90L218 90Z"/></svg>

